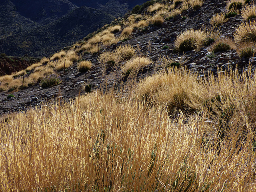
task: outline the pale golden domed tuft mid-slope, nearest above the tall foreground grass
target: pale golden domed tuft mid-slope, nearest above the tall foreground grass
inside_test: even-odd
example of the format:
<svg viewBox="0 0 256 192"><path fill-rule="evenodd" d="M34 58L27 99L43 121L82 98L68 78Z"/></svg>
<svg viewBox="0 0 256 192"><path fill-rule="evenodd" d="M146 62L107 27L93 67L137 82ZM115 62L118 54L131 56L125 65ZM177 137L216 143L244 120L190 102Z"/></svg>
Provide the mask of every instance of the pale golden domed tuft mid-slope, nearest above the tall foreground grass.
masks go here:
<svg viewBox="0 0 256 192"><path fill-rule="evenodd" d="M131 60L126 61L126 63L121 67L124 74L130 74L131 72L136 72L140 68L149 65L152 61L144 56L137 56Z"/></svg>

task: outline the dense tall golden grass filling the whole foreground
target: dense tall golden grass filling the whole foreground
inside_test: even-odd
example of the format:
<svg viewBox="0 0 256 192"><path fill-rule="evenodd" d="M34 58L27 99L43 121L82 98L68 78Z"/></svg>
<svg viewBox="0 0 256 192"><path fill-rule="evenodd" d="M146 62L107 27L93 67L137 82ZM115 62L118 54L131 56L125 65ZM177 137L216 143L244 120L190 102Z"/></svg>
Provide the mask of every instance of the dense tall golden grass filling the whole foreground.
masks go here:
<svg viewBox="0 0 256 192"><path fill-rule="evenodd" d="M170 70L135 99L93 92L14 114L0 123L0 191L255 191L255 81Z"/></svg>

